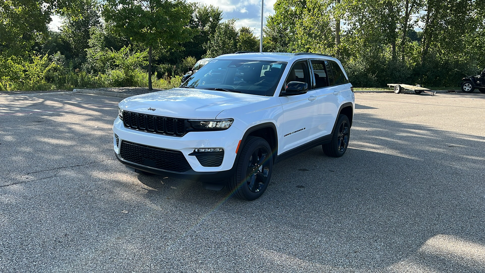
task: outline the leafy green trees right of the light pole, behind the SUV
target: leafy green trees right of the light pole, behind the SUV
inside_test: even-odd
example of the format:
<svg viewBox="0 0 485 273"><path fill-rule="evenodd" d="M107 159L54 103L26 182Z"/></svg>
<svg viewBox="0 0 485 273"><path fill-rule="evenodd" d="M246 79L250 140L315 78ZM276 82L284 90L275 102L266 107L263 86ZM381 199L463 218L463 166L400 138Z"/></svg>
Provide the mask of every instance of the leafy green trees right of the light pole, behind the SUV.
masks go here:
<svg viewBox="0 0 485 273"><path fill-rule="evenodd" d="M459 86L485 67L484 9L479 0L277 0L264 48L338 52L356 86Z"/></svg>

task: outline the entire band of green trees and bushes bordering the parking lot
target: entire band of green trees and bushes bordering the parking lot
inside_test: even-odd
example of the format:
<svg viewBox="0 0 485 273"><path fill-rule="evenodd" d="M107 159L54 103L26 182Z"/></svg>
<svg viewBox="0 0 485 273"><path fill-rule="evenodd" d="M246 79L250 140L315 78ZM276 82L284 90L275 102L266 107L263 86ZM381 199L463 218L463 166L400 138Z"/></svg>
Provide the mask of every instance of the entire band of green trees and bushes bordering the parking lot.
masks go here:
<svg viewBox="0 0 485 273"><path fill-rule="evenodd" d="M336 55L356 86L459 86L485 67L483 0L276 0L274 7L264 51ZM48 31L53 13L63 18L59 32ZM0 89L174 86L203 56L259 50L252 29L222 18L218 7L185 0L3 0Z"/></svg>

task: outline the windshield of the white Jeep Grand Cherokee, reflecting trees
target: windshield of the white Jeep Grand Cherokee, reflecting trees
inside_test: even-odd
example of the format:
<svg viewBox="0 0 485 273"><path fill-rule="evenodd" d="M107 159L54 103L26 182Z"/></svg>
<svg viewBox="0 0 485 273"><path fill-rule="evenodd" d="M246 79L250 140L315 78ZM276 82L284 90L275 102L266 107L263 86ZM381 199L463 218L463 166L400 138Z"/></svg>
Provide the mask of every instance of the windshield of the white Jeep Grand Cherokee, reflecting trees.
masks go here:
<svg viewBox="0 0 485 273"><path fill-rule="evenodd" d="M286 62L212 60L180 87L273 96Z"/></svg>

